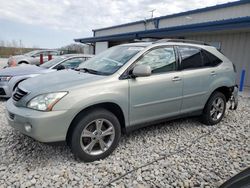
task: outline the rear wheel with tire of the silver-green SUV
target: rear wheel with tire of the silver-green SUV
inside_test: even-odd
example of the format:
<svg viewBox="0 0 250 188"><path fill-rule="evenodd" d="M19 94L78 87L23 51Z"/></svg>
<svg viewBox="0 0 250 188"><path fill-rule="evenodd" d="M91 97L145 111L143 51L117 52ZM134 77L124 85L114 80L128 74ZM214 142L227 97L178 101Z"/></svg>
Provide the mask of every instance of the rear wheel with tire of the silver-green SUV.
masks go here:
<svg viewBox="0 0 250 188"><path fill-rule="evenodd" d="M223 93L215 91L208 99L201 117L201 122L205 125L215 125L219 123L225 115L226 97Z"/></svg>

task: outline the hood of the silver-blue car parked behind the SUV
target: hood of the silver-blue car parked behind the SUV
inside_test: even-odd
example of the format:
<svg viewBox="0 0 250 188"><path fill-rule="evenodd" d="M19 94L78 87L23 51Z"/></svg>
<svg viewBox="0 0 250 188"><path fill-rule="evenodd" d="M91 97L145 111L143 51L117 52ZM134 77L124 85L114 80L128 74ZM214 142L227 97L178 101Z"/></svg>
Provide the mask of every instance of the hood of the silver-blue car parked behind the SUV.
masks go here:
<svg viewBox="0 0 250 188"><path fill-rule="evenodd" d="M44 69L35 65L20 65L17 67L7 67L0 70L0 76L21 76L27 74L42 74L55 70Z"/></svg>

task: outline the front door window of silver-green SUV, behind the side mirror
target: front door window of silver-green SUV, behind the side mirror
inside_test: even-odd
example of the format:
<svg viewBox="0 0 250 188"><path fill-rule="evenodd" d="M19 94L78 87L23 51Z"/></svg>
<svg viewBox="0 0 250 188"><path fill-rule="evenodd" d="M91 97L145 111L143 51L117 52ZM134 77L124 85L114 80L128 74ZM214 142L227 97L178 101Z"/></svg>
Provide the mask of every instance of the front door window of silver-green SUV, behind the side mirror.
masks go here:
<svg viewBox="0 0 250 188"><path fill-rule="evenodd" d="M153 73L169 72L176 69L175 52L172 47L157 48L145 54L136 65L149 65Z"/></svg>

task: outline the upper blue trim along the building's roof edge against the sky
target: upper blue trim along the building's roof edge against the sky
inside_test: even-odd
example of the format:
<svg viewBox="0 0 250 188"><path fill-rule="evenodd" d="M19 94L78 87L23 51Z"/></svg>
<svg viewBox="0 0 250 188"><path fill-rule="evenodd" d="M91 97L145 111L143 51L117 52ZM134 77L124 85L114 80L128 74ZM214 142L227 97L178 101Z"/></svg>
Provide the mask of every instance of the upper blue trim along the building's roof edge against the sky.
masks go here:
<svg viewBox="0 0 250 188"><path fill-rule="evenodd" d="M178 17L178 16L186 16L186 15L190 15L190 14L207 12L207 11L212 11L212 10L218 10L218 9L221 9L221 8L228 8L228 7L237 6L237 5L243 5L243 4L248 4L248 3L250 3L250 0L240 0L240 1L229 2L229 3L225 3L225 4L220 4L220 5L215 5L215 6L210 6L210 7L205 7L205 8L195 9L195 10L190 10L190 11L181 12L181 13L177 13L177 14L160 16L160 17L156 17L154 19L147 19L146 21L159 22L160 19L174 18L174 17ZM100 29L93 29L93 32L94 31L107 30L107 29L114 29L114 28L118 28L118 27L125 27L125 26L140 24L140 23L144 23L144 22L145 22L145 20L139 20L139 21L125 23L125 24L120 24L120 25L115 25L115 26L111 26L111 27L104 27L104 28L100 28Z"/></svg>

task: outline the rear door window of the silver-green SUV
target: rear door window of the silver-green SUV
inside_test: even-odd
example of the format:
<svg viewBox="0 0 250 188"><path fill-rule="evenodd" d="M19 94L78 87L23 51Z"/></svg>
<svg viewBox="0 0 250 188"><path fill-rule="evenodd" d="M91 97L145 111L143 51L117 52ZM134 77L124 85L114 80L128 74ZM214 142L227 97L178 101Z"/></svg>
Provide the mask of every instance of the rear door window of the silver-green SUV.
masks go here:
<svg viewBox="0 0 250 188"><path fill-rule="evenodd" d="M194 69L202 67L201 50L193 47L178 47L181 55L181 68Z"/></svg>

